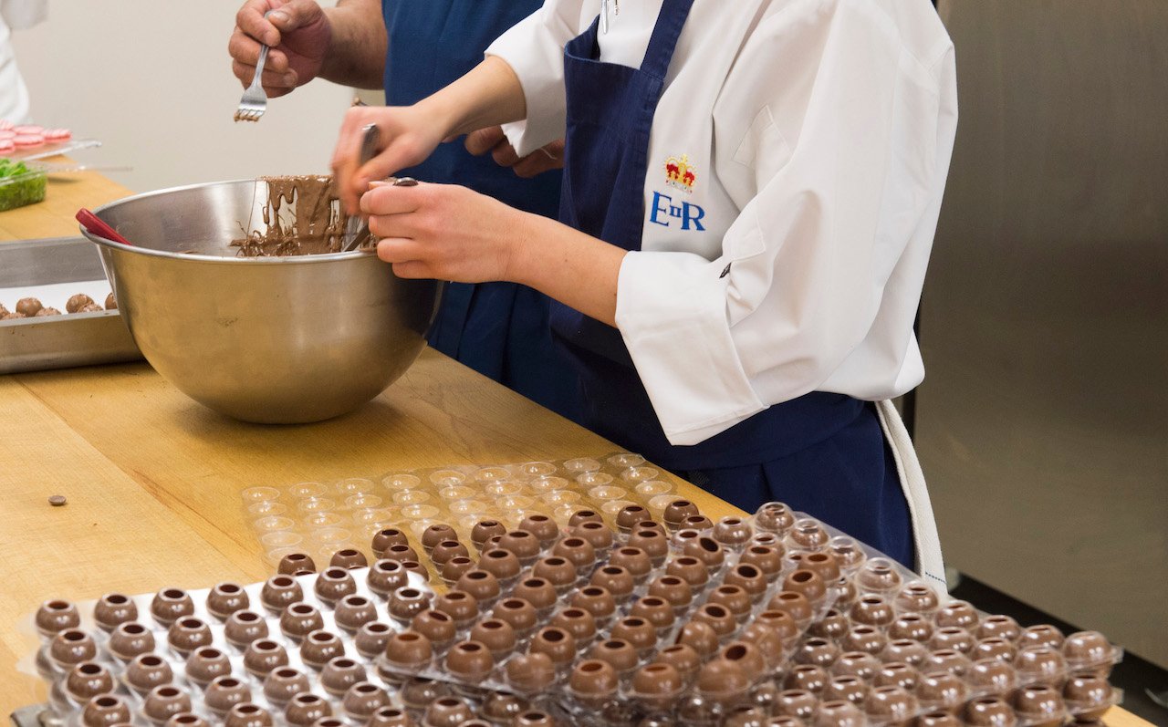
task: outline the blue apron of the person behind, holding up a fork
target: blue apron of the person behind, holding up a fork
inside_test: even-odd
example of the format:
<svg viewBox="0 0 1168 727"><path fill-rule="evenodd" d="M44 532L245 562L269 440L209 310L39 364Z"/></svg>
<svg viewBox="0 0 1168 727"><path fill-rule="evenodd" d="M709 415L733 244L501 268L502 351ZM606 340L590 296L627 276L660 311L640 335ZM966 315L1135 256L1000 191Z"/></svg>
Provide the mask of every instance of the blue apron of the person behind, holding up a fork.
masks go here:
<svg viewBox="0 0 1168 727"><path fill-rule="evenodd" d="M383 0L389 48L385 103L413 104L482 61L505 30L542 0ZM461 184L512 207L555 217L559 173L524 180L489 156L472 156L463 140L440 145L403 175ZM549 299L510 282L449 284L430 345L570 419L578 419L579 382L551 340Z"/></svg>

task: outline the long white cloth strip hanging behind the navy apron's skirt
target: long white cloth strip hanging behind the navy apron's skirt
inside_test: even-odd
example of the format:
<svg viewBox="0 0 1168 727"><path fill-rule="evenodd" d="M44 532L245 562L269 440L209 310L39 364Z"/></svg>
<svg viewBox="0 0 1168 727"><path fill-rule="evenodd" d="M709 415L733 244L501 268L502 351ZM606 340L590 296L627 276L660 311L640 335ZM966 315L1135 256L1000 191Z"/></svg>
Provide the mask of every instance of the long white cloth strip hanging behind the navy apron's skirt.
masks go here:
<svg viewBox="0 0 1168 727"><path fill-rule="evenodd" d="M933 519L933 505L925 487L925 475L920 471L917 452L912 440L904 428L901 414L889 400L877 401L876 412L880 426L888 438L889 448L896 459L896 470L901 475L901 487L909 501L909 516L912 518L912 537L917 545L917 573L937 590L941 597L947 596L945 582L945 562L941 559L941 541L937 534L937 520Z"/></svg>

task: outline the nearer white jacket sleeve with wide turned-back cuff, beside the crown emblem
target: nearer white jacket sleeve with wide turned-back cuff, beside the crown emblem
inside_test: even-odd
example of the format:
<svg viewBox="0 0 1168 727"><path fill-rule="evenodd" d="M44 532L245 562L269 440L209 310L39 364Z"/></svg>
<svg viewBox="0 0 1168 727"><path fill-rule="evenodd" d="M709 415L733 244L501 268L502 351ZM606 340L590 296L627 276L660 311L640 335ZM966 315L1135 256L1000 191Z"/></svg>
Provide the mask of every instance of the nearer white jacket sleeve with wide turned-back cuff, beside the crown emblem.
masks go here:
<svg viewBox="0 0 1168 727"><path fill-rule="evenodd" d="M830 390L885 305L904 328L889 357L909 345L919 287L885 284L910 243L931 245L918 233L939 204L938 83L869 4L827 5L760 26L726 79L715 126L741 133L716 140L719 175L744 165L757 191L722 256L621 265L617 324L674 445Z"/></svg>

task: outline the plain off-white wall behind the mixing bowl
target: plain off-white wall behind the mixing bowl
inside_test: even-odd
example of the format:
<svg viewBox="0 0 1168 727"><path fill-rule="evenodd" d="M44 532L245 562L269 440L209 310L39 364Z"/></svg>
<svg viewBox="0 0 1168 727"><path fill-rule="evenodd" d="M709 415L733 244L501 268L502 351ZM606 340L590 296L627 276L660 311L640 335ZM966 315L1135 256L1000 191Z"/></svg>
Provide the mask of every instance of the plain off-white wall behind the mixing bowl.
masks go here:
<svg viewBox="0 0 1168 727"><path fill-rule="evenodd" d="M134 191L327 172L350 89L314 81L256 124L232 120L241 2L49 0L48 22L13 34L35 123L102 140L75 158L133 167L107 176Z"/></svg>

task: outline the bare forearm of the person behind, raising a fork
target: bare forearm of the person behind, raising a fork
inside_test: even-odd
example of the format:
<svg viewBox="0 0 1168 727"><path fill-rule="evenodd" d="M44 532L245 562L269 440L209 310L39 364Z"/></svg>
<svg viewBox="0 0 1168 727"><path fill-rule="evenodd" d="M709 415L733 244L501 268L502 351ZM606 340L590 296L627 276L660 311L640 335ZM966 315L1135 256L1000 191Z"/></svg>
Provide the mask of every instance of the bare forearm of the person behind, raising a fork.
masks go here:
<svg viewBox="0 0 1168 727"><path fill-rule="evenodd" d="M333 36L321 78L357 89L382 88L387 35L376 0L340 0L325 8Z"/></svg>

